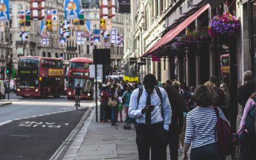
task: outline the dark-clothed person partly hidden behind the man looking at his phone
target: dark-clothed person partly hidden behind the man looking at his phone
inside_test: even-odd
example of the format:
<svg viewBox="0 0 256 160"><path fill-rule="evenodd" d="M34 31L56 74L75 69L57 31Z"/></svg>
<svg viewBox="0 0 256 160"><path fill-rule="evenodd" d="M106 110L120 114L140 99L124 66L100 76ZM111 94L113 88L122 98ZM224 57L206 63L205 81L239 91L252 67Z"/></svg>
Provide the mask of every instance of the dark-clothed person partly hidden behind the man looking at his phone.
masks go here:
<svg viewBox="0 0 256 160"><path fill-rule="evenodd" d="M164 148L164 159L166 157L166 148L169 145L170 149L170 158L171 160L178 159L178 148L179 148L179 134L182 132L183 126L183 112L181 107L182 97L179 95L179 92L173 88L171 85L167 85L164 87L166 93L168 95L168 99L170 100L170 104L172 107L172 123L169 125L169 131L166 133L166 146Z"/></svg>

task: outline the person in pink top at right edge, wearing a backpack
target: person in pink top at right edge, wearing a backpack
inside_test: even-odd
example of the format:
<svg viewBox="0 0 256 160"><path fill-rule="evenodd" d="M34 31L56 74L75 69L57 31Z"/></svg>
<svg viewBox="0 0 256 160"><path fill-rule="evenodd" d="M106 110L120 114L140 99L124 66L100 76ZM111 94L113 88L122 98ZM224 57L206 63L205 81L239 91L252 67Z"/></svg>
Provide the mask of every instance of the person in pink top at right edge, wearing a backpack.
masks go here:
<svg viewBox="0 0 256 160"><path fill-rule="evenodd" d="M249 132L244 127L246 116L248 115L250 109L252 109L253 105L256 105L256 93L253 93L252 96L247 100L244 107L244 114L241 118L240 126L239 126L239 145L241 146L241 150L244 156L244 160L250 160L255 158L254 148L256 147L256 135L252 132Z"/></svg>

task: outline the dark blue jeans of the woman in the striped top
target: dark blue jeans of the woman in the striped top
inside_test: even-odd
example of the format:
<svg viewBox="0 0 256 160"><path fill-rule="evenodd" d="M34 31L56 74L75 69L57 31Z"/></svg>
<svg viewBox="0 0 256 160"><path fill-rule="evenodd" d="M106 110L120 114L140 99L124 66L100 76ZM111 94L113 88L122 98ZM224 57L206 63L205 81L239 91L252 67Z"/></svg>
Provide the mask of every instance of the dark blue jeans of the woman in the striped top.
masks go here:
<svg viewBox="0 0 256 160"><path fill-rule="evenodd" d="M219 160L218 148L216 143L210 143L201 147L191 149L191 160Z"/></svg>

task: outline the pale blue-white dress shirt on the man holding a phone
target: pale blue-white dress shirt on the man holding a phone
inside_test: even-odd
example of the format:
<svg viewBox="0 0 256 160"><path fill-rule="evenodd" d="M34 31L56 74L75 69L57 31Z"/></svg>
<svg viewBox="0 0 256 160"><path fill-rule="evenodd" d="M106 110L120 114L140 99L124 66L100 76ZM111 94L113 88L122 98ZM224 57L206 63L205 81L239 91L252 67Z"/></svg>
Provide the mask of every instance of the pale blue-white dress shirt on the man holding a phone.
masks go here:
<svg viewBox="0 0 256 160"><path fill-rule="evenodd" d="M163 98L164 119L161 114L161 99L157 95L156 89L154 89L153 92L150 94L151 105L155 106L154 110L151 112L151 123L158 124L164 121L164 126L163 126L164 129L169 130L169 125L172 122L172 108L171 108L166 91L161 87L159 87L159 89L161 91L162 98ZM138 104L138 94L139 94L139 88L137 88L132 92L128 115L131 118L136 118L136 122L138 124L145 124L146 113L142 114L141 109L143 109L146 106L148 93L145 90L144 86L143 86L143 92L139 100L139 104ZM137 109L137 106L138 106L138 109Z"/></svg>

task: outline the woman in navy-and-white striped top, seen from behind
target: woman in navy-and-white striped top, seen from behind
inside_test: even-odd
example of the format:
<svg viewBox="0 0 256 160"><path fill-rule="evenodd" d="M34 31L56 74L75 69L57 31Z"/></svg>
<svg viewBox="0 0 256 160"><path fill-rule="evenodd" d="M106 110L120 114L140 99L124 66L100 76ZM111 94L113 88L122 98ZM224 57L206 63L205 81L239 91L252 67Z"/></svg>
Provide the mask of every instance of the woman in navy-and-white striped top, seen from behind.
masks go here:
<svg viewBox="0 0 256 160"><path fill-rule="evenodd" d="M199 85L195 90L193 100L196 103L196 108L189 111L187 115L187 127L182 159L188 159L187 152L190 145L191 160L220 159L214 137L214 127L217 122L216 113L211 106L214 104L214 97L207 86ZM218 108L218 110L220 117L227 121L220 108Z"/></svg>

